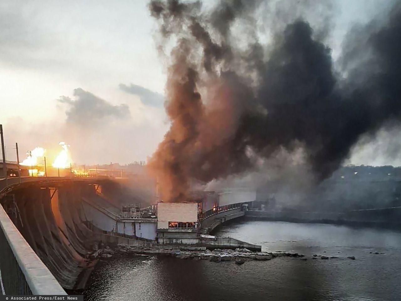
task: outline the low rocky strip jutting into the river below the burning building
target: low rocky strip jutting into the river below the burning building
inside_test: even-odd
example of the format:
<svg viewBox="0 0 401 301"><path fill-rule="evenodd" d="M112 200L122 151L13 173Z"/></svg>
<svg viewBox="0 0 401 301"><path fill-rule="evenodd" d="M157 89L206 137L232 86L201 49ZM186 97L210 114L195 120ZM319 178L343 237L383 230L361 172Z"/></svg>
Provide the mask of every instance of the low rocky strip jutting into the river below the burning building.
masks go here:
<svg viewBox="0 0 401 301"><path fill-rule="evenodd" d="M308 257L298 253L288 253L284 251L277 252L253 252L246 248L232 249L214 249L211 250L188 250L186 248L179 248L176 246L172 249L151 249L151 248L140 248L130 247L126 244L118 244L115 248L111 249L109 246L94 250L89 256L91 259L108 259L115 254L130 253L136 255L150 255L150 256L166 256L175 257L177 259L192 259L192 260L208 260L213 262L222 261L235 261L236 264L242 265L243 263L251 260L256 261L268 261L277 257L292 257L298 258L303 261L307 261ZM338 259L340 257L335 256L324 256L314 254L310 257L311 259ZM347 259L355 260L354 256L348 256Z"/></svg>

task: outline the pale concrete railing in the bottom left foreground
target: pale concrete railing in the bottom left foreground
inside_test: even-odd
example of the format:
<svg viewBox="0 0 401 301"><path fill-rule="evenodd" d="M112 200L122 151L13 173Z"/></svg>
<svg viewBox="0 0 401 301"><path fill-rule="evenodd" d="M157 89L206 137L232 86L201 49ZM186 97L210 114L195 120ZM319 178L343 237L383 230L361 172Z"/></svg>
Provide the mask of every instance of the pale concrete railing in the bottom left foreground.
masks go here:
<svg viewBox="0 0 401 301"><path fill-rule="evenodd" d="M0 293L67 295L0 205Z"/></svg>

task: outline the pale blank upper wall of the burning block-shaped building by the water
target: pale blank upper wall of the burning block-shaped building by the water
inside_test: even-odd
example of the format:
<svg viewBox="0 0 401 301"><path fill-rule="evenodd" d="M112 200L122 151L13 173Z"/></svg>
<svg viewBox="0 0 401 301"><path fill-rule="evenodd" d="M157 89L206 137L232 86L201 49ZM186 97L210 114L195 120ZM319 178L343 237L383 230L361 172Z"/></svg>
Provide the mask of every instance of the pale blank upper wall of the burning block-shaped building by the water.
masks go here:
<svg viewBox="0 0 401 301"><path fill-rule="evenodd" d="M197 203L158 203L157 228L168 229L168 222L197 222Z"/></svg>

